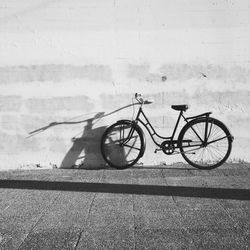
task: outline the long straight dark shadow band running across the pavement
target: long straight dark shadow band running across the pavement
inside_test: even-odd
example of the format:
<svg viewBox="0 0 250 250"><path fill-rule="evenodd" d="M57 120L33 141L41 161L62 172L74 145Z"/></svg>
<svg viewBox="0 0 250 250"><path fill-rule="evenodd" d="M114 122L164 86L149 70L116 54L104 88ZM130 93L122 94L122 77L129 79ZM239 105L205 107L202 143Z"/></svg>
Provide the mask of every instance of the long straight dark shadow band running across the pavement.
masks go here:
<svg viewBox="0 0 250 250"><path fill-rule="evenodd" d="M250 200L249 189L136 184L0 180L0 188Z"/></svg>

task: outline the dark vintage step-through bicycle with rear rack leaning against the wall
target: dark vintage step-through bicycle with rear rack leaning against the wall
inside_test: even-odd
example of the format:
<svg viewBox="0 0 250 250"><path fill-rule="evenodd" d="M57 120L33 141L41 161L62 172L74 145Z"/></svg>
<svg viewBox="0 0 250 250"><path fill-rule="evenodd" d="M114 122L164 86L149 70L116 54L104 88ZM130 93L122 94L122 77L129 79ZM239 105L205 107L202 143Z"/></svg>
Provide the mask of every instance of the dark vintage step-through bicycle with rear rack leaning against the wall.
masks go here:
<svg viewBox="0 0 250 250"><path fill-rule="evenodd" d="M146 141L139 124L146 128L157 146L155 153L163 151L166 155L181 154L188 164L198 169L214 169L228 159L234 138L225 124L210 117L212 112L185 117L183 113L187 111L187 105L172 105L172 109L179 111L179 116L172 135L165 137L155 131L143 112L143 105L151 104L152 101L144 100L142 95L137 93L135 100L140 105L136 118L119 120L109 126L102 135L101 153L111 167L132 167L144 155ZM186 124L177 139L174 139L181 118Z"/></svg>

